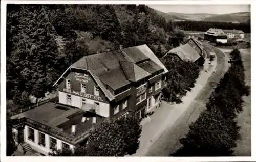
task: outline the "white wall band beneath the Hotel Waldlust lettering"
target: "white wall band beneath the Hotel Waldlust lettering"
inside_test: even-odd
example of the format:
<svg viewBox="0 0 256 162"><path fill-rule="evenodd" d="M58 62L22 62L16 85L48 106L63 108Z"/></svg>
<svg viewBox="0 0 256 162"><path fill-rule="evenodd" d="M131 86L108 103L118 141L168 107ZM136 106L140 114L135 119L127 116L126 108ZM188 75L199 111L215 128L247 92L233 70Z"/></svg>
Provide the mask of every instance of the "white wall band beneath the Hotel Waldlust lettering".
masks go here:
<svg viewBox="0 0 256 162"><path fill-rule="evenodd" d="M99 102L99 101L95 101L95 100L88 99L88 98L83 98L83 97L72 95L72 94L69 94L69 95L71 95L71 105L72 106L81 108L82 99L86 99L86 103L89 103L89 104L94 104L94 102L98 102L99 103L98 115L106 117L106 118L108 118L110 116L110 105L108 103ZM67 93L59 91L59 103L67 104Z"/></svg>

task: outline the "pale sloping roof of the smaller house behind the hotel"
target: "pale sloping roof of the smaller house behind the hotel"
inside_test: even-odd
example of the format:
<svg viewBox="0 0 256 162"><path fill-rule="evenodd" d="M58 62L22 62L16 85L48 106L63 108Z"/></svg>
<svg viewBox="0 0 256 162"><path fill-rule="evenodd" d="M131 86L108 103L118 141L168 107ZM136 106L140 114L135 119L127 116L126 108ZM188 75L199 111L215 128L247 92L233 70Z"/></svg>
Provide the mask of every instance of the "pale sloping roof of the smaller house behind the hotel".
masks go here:
<svg viewBox="0 0 256 162"><path fill-rule="evenodd" d="M176 54L180 57L181 60L189 60L195 62L201 56L197 53L195 49L193 49L189 44L184 44L179 47L173 48L168 53L164 55L167 56L169 54Z"/></svg>

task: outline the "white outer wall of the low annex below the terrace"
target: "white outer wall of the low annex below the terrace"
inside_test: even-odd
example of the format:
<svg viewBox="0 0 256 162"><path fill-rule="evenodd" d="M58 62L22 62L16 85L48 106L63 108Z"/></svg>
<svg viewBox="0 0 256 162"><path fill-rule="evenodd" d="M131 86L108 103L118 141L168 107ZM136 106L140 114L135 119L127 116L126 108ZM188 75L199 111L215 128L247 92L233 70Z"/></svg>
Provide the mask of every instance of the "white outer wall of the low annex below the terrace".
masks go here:
<svg viewBox="0 0 256 162"><path fill-rule="evenodd" d="M32 128L32 129L34 129L34 128ZM25 132L24 133L24 135L25 135L24 141L27 142L30 145L30 147L35 151L38 151L38 152L48 156L48 153L52 151L50 149L50 137L57 140L57 149L62 149L63 141L61 141L55 137L49 136L49 134L46 134L46 133L43 133L43 132L40 132L40 131L34 129L35 140L33 142L33 141L28 140L28 126L27 125L25 126L24 132ZM45 147L38 145L38 141L39 141L38 132L45 134L45 143L46 143ZM64 142L64 143L68 144L67 142ZM71 145L71 144L69 144L69 145L70 145L70 149L74 148L73 145Z"/></svg>

